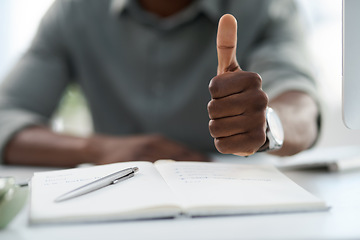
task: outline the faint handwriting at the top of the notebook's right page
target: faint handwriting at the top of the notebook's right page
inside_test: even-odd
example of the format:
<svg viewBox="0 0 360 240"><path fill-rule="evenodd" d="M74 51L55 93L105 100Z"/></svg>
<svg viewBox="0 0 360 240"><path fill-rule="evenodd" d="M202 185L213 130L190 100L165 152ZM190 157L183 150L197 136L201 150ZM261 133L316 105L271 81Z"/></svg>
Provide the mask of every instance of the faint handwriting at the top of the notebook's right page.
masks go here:
<svg viewBox="0 0 360 240"><path fill-rule="evenodd" d="M270 182L270 178L252 176L244 169L230 168L228 166L176 166L174 173L178 180L184 183L201 183L211 180L234 181L261 181Z"/></svg>

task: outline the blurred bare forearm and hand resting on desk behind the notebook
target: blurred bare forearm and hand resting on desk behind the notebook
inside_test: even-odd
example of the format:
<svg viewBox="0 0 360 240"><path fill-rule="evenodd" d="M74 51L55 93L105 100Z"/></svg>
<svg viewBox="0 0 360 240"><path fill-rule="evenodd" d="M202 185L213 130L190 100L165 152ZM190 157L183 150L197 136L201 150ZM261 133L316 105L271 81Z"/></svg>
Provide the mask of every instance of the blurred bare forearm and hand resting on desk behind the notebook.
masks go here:
<svg viewBox="0 0 360 240"><path fill-rule="evenodd" d="M208 160L206 156L159 135L80 138L57 134L45 127L20 131L7 144L4 155L6 164L59 167L158 159Z"/></svg>

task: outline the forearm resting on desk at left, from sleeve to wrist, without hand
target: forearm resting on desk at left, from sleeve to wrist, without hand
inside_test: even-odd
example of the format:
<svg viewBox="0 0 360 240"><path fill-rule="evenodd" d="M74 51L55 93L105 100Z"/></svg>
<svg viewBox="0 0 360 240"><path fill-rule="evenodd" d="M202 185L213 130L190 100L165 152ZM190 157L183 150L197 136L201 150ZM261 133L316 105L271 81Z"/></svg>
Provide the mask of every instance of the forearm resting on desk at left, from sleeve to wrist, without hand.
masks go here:
<svg viewBox="0 0 360 240"><path fill-rule="evenodd" d="M4 163L73 167L91 162L86 139L52 132L45 127L30 127L17 133L7 144Z"/></svg>

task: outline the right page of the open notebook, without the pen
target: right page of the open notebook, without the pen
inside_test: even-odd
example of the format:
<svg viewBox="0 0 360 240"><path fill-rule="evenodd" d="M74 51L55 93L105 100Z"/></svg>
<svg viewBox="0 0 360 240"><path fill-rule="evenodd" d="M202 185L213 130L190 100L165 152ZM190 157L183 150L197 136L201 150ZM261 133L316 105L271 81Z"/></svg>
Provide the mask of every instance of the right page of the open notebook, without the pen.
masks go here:
<svg viewBox="0 0 360 240"><path fill-rule="evenodd" d="M272 166L158 161L156 167L183 208L201 209L199 215L326 208Z"/></svg>

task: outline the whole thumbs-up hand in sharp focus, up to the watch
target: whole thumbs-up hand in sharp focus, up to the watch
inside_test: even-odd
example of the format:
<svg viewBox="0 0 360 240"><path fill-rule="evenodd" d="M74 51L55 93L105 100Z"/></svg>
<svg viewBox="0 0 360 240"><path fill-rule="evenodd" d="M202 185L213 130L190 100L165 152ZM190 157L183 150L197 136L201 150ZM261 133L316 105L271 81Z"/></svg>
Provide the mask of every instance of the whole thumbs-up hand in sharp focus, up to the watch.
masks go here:
<svg viewBox="0 0 360 240"><path fill-rule="evenodd" d="M209 84L209 130L219 152L248 156L266 141L268 97L259 74L241 70L236 43L236 19L226 14L218 26L217 76Z"/></svg>

